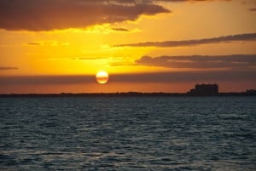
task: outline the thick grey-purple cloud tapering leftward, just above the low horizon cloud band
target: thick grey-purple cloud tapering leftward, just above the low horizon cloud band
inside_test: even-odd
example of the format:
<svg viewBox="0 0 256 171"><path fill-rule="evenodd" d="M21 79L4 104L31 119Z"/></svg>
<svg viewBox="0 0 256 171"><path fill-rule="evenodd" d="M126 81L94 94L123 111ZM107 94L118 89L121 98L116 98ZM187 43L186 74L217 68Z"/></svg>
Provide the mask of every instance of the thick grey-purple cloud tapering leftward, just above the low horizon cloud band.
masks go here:
<svg viewBox="0 0 256 171"><path fill-rule="evenodd" d="M256 54L232 54L218 56L143 56L136 60L137 65L162 66L167 68L190 69L239 69L256 71Z"/></svg>

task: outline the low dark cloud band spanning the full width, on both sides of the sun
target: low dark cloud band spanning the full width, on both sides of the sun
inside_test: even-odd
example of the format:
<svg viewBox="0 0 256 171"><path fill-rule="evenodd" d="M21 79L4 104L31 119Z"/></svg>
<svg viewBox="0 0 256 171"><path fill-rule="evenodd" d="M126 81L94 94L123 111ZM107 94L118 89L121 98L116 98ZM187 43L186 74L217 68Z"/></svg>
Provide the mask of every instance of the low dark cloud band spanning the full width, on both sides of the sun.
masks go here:
<svg viewBox="0 0 256 171"><path fill-rule="evenodd" d="M109 83L183 83L222 81L252 81L255 71L180 71L137 74L112 74ZM0 77L0 86L11 85L67 85L96 83L95 76L37 76L37 77Z"/></svg>

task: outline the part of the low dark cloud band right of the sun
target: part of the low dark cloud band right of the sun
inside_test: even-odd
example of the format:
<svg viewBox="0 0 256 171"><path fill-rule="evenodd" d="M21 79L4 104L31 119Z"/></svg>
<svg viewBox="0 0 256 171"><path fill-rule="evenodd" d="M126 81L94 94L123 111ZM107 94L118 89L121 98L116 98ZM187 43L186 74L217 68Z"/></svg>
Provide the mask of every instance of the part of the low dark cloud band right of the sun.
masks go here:
<svg viewBox="0 0 256 171"><path fill-rule="evenodd" d="M110 82L127 83L177 83L177 82L213 82L253 80L255 71L181 71L112 75Z"/></svg>

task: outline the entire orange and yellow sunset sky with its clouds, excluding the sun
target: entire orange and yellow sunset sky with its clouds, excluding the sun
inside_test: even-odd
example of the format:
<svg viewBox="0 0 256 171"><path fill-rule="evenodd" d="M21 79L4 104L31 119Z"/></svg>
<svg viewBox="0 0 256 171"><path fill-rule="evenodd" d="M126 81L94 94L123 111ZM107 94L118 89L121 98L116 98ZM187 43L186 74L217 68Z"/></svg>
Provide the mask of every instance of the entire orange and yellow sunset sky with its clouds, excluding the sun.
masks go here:
<svg viewBox="0 0 256 171"><path fill-rule="evenodd" d="M256 89L256 1L0 0L0 52L0 94L241 92Z"/></svg>

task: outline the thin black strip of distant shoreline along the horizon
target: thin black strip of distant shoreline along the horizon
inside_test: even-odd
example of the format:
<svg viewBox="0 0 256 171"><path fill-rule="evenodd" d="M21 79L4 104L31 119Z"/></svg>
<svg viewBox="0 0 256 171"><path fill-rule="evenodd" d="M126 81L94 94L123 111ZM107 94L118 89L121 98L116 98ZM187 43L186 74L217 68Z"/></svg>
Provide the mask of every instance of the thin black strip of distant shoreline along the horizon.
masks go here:
<svg viewBox="0 0 256 171"><path fill-rule="evenodd" d="M0 94L3 97L223 97L223 96L256 96L256 94L248 92L234 93L218 93L214 95L201 95L189 93L61 93L61 94Z"/></svg>

